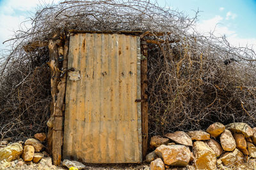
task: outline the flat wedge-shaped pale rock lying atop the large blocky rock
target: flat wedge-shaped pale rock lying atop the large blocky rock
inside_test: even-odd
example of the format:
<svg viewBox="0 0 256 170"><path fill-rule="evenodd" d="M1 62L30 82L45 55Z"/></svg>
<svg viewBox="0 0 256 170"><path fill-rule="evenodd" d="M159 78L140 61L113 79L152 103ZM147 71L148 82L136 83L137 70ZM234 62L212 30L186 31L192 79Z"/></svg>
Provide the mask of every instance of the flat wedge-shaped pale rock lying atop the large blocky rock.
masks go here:
<svg viewBox="0 0 256 170"><path fill-rule="evenodd" d="M174 133L168 133L165 135L166 138L172 139L175 143L186 145L186 146L193 146L192 139L183 131L177 131Z"/></svg>

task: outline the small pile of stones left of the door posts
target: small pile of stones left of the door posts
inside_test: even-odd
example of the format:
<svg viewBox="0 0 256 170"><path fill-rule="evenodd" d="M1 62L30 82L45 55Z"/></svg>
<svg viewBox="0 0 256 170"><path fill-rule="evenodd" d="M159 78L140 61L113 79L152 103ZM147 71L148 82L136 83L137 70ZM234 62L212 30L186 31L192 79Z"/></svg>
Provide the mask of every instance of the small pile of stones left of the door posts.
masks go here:
<svg viewBox="0 0 256 170"><path fill-rule="evenodd" d="M1 168L10 166L10 162L18 160L20 157L19 164L29 164L29 162L38 163L44 153L44 142L46 139L45 133L35 134L35 138L29 138L24 143L22 141L18 143L9 143L8 140L1 141L0 147L0 164ZM24 161L24 162L23 162Z"/></svg>

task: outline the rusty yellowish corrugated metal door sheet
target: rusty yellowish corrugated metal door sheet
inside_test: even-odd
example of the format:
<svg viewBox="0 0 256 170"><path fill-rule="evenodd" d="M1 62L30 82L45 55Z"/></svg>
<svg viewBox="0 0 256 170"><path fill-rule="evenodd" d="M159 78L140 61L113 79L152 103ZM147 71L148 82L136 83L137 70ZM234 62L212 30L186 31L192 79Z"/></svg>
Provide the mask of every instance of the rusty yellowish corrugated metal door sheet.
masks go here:
<svg viewBox="0 0 256 170"><path fill-rule="evenodd" d="M63 158L87 163L142 162L140 38L70 37Z"/></svg>

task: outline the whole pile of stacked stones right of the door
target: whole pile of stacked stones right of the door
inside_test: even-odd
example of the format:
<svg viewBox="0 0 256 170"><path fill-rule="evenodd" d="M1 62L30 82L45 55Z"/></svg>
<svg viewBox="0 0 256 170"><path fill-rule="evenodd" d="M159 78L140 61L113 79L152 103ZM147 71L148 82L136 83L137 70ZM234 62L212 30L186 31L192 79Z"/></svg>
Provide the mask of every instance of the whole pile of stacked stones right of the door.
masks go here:
<svg viewBox="0 0 256 170"><path fill-rule="evenodd" d="M232 169L256 158L256 128L245 123L214 123L204 131L177 131L150 139L150 169ZM242 167L242 166L241 166ZM246 168L246 167L245 167ZM246 168L248 169L248 168Z"/></svg>

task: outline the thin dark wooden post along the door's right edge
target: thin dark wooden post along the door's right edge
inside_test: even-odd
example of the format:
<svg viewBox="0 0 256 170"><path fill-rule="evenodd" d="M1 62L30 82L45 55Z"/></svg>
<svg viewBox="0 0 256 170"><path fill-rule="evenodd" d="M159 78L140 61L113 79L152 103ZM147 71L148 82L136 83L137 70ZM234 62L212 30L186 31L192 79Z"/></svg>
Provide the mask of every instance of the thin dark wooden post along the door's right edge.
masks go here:
<svg viewBox="0 0 256 170"><path fill-rule="evenodd" d="M143 158L147 154L148 147L148 78L147 78L147 57L148 46L147 41L141 39L141 131L142 131L142 153Z"/></svg>

